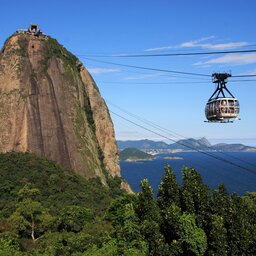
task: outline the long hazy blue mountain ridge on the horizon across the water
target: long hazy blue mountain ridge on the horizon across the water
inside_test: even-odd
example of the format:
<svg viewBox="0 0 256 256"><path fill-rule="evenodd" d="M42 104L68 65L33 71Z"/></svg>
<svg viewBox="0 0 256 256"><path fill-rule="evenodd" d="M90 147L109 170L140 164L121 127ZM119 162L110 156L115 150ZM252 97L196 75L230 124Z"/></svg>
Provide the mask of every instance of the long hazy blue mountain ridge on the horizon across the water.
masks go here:
<svg viewBox="0 0 256 256"><path fill-rule="evenodd" d="M162 141L152 140L128 140L117 141L120 150L125 148L137 148L140 150L181 150L181 151L225 151L225 152L256 152L256 147L250 147L243 144L220 143L212 145L205 137L201 139L183 139L175 143L167 144Z"/></svg>

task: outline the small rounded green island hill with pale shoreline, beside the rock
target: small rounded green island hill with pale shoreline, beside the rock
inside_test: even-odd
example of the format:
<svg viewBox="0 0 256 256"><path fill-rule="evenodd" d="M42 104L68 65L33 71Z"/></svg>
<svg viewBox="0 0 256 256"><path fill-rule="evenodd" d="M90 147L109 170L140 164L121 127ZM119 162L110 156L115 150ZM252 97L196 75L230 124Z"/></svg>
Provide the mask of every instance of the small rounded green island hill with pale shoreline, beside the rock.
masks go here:
<svg viewBox="0 0 256 256"><path fill-rule="evenodd" d="M144 161L153 160L154 157L137 148L126 148L120 152L120 160L122 161Z"/></svg>

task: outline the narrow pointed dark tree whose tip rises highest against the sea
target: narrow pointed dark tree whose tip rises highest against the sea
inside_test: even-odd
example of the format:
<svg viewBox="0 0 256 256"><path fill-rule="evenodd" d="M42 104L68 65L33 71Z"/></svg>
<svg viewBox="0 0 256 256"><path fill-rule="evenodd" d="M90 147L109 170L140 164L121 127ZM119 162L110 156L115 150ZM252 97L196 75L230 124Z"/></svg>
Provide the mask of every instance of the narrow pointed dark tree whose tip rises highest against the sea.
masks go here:
<svg viewBox="0 0 256 256"><path fill-rule="evenodd" d="M180 206L179 185L169 165L165 166L165 174L158 187L157 202L160 209L166 209L173 203Z"/></svg>

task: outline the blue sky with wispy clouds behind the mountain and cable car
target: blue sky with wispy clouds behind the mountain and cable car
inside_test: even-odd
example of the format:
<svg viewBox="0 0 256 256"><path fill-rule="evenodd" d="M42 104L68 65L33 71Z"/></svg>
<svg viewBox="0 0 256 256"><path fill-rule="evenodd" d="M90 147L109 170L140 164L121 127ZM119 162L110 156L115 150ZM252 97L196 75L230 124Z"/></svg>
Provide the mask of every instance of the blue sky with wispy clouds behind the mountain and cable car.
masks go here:
<svg viewBox="0 0 256 256"><path fill-rule="evenodd" d="M120 57L254 50L256 1L0 2L0 46L16 30L27 28L30 23L39 24L43 33L56 38L89 70L110 109L117 139L168 140L171 143L180 138L206 137L212 143L256 146L256 81L244 81L249 78L228 81L229 90L240 102L241 120L228 124L204 122L205 104L215 89L210 75L215 72L256 74L255 52ZM135 69L104 61L209 76Z"/></svg>

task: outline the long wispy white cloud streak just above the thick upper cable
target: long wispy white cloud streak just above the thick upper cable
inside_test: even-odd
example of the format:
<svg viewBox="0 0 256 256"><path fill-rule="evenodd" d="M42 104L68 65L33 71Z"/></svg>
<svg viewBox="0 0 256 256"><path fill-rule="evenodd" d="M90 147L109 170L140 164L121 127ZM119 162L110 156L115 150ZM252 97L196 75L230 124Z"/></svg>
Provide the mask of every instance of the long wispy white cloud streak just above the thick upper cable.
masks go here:
<svg viewBox="0 0 256 256"><path fill-rule="evenodd" d="M218 43L218 44L202 43L204 41L208 41L214 38L216 37L215 36L202 37L202 38L184 42L178 45L149 48L149 49L146 49L145 51L163 51L163 50L179 49L179 48L202 48L202 49L208 49L208 50L228 50L228 49L235 49L238 47L243 47L251 44L248 42L229 42L229 43Z"/></svg>

